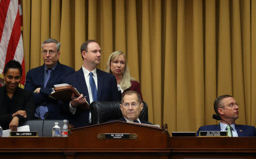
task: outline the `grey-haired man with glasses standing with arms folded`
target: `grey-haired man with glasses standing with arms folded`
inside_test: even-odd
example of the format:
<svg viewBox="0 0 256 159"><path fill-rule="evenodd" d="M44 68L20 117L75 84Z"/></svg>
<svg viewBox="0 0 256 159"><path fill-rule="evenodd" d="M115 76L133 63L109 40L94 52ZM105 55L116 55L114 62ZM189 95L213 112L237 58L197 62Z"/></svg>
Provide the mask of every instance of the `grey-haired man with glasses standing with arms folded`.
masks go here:
<svg viewBox="0 0 256 159"><path fill-rule="evenodd" d="M35 118L44 119L48 112L48 119L64 119L58 101L49 98L49 94L53 85L62 83L63 77L75 70L60 64L60 43L54 39L43 41L42 56L44 64L27 72L24 89L34 92L37 106Z"/></svg>

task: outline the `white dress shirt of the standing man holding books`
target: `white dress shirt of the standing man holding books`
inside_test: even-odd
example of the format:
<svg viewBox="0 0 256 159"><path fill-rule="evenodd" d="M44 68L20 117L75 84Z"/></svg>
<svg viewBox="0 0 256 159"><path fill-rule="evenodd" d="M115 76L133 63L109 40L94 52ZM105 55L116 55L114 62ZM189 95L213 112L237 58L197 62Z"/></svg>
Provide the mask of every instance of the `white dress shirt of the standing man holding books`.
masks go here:
<svg viewBox="0 0 256 159"><path fill-rule="evenodd" d="M97 90L98 90L98 80L97 80L97 72L96 72L96 68L94 70L92 70L92 73L93 73L93 80L95 82L95 85L97 87ZM92 98L92 90L90 89L90 82L89 82L89 78L90 78L90 75L89 75L89 70L85 69L84 66L82 66L82 71L84 72L84 78L85 78L85 83L86 83L86 86L87 86L87 89L88 89L88 94L89 94L89 99L90 99L90 103L93 102L93 98ZM89 104L90 104L89 103ZM71 106L71 102L69 102L69 111L72 113L72 114L75 114L76 113L76 107L72 107ZM89 123L91 123L91 114L89 114Z"/></svg>

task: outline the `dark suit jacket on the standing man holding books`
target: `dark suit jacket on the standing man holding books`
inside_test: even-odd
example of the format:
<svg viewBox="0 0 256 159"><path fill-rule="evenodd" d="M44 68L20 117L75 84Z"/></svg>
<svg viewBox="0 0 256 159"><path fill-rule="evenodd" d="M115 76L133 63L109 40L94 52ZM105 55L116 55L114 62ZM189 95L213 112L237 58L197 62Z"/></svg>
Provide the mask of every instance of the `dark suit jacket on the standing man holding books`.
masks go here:
<svg viewBox="0 0 256 159"><path fill-rule="evenodd" d="M97 69L96 72L98 81L98 101L120 101L115 77L112 74L103 72L100 69ZM86 97L86 101L90 103L82 68L77 72L65 77L64 82L75 87L80 94L83 94ZM69 102L63 103L63 107L65 108L64 112L69 113L69 123L71 123L74 127L84 127L85 125L89 125L89 110L81 111L77 109L76 113L73 115L69 112Z"/></svg>

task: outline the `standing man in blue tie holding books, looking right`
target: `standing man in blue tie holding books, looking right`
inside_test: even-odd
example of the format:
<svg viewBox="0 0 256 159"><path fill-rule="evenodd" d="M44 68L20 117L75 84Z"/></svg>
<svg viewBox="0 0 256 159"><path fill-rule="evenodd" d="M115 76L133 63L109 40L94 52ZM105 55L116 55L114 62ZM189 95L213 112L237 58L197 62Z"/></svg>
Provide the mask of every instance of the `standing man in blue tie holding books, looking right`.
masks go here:
<svg viewBox="0 0 256 159"><path fill-rule="evenodd" d="M97 69L101 61L101 48L94 40L88 40L81 45L83 65L80 70L67 76L65 83L75 87L80 97L72 96L72 101L64 103L65 112L69 113L69 123L74 127L90 124L89 110L80 110L79 105L93 101L119 101L117 81L110 74Z"/></svg>

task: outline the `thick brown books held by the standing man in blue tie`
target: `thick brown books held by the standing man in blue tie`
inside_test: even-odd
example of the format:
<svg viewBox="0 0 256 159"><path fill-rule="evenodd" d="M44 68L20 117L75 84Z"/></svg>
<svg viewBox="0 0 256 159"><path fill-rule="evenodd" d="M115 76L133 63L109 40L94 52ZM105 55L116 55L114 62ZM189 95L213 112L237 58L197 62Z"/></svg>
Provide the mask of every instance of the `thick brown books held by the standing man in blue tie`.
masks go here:
<svg viewBox="0 0 256 159"><path fill-rule="evenodd" d="M60 84L55 85L54 88L52 88L52 93L49 95L49 97L53 99L59 99L62 101L71 101L72 94L75 94L75 97L79 97L80 93L77 91L76 88L74 88L72 85L68 84ZM88 110L90 107L90 104L86 101L84 104L81 104L78 106L81 110Z"/></svg>

